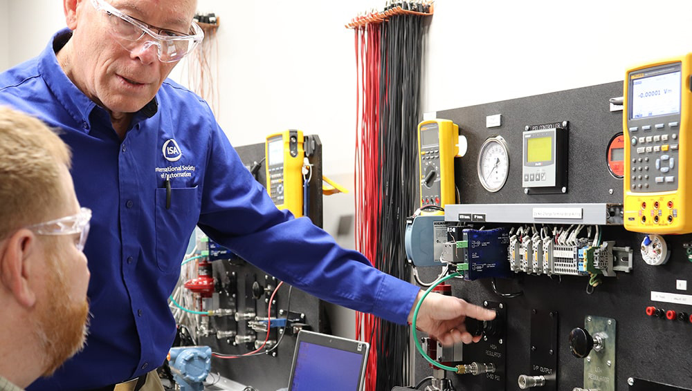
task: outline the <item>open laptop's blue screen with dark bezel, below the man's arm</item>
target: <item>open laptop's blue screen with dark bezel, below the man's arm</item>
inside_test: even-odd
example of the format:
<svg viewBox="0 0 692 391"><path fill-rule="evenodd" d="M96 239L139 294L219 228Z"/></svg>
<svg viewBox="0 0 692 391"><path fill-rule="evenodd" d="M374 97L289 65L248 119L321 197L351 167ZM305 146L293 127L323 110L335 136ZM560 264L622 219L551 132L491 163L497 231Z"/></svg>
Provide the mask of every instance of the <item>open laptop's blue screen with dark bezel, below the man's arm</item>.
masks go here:
<svg viewBox="0 0 692 391"><path fill-rule="evenodd" d="M290 391L361 390L367 343L301 331L295 350Z"/></svg>

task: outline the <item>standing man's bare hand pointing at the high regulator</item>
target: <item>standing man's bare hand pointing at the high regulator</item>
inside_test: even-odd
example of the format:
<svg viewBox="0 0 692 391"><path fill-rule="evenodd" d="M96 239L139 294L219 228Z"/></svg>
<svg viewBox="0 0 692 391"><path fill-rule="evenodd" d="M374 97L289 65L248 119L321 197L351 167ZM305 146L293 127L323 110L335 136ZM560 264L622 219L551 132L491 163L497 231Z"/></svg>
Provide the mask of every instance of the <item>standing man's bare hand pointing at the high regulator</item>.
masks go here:
<svg viewBox="0 0 692 391"><path fill-rule="evenodd" d="M418 292L416 303L421 300L422 296L423 292ZM415 305L413 308L415 309ZM410 314L408 314L409 322L413 320L414 309L411 309ZM466 331L466 325L464 325L466 316L479 321L491 321L495 318L495 311L466 303L460 298L431 292L426 296L418 310L416 327L418 330L437 338L437 341L445 346L459 342L478 342L480 336L471 336Z"/></svg>

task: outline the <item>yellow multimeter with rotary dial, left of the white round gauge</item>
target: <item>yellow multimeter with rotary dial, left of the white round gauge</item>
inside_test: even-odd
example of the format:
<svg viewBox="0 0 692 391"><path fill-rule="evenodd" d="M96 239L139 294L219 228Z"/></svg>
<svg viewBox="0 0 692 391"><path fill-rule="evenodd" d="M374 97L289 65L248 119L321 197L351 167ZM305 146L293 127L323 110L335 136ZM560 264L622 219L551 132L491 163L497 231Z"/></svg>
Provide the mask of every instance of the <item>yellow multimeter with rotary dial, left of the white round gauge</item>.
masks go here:
<svg viewBox="0 0 692 391"><path fill-rule="evenodd" d="M421 207L444 207L455 202L454 157L459 153L458 142L459 126L450 120L428 120L418 124Z"/></svg>

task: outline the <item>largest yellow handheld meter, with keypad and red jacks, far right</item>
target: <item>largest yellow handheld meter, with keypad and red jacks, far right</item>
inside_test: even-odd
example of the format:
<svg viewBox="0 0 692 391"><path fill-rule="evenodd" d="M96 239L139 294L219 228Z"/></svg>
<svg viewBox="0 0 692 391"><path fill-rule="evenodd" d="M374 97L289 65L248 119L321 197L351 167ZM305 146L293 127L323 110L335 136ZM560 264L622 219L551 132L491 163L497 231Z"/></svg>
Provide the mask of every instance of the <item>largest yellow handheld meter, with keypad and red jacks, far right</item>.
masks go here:
<svg viewBox="0 0 692 391"><path fill-rule="evenodd" d="M646 233L692 232L692 53L627 70L624 86L624 225Z"/></svg>

